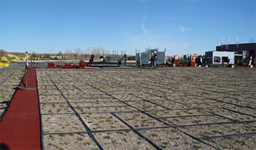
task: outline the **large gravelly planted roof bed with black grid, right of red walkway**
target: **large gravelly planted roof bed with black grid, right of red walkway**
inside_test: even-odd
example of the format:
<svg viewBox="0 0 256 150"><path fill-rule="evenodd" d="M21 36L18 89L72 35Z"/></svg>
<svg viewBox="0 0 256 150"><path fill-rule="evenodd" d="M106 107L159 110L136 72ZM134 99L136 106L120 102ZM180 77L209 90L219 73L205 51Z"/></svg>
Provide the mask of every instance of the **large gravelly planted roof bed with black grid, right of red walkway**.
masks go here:
<svg viewBox="0 0 256 150"><path fill-rule="evenodd" d="M43 147L252 149L254 71L37 69Z"/></svg>

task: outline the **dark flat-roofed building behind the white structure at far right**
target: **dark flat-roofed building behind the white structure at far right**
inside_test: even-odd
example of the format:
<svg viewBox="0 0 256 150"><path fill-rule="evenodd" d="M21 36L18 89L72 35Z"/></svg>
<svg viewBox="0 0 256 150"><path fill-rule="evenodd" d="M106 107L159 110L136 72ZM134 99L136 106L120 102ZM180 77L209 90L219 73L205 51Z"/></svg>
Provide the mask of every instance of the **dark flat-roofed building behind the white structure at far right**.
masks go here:
<svg viewBox="0 0 256 150"><path fill-rule="evenodd" d="M221 45L216 47L216 51L235 52L235 63L243 60L243 64L248 64L248 58L253 56L253 64L256 63L256 43L238 43Z"/></svg>

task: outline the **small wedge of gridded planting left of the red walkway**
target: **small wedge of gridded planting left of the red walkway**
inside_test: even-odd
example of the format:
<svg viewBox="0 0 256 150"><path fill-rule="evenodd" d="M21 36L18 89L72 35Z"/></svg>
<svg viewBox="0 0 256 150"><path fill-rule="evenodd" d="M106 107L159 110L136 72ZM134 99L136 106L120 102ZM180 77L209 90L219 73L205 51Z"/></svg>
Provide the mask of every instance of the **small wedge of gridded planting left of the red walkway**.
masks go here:
<svg viewBox="0 0 256 150"><path fill-rule="evenodd" d="M15 94L15 87L19 86L23 76L24 68L19 66L10 66L0 70L0 121Z"/></svg>

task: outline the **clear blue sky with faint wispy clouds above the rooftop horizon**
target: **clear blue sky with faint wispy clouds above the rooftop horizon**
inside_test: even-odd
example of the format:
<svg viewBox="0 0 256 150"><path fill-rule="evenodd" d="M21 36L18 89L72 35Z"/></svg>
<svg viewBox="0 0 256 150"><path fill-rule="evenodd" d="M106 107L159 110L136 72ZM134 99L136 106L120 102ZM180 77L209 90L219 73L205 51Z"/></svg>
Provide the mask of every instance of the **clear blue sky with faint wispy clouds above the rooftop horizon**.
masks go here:
<svg viewBox="0 0 256 150"><path fill-rule="evenodd" d="M58 53L104 47L202 54L255 41L255 1L0 1L0 49Z"/></svg>

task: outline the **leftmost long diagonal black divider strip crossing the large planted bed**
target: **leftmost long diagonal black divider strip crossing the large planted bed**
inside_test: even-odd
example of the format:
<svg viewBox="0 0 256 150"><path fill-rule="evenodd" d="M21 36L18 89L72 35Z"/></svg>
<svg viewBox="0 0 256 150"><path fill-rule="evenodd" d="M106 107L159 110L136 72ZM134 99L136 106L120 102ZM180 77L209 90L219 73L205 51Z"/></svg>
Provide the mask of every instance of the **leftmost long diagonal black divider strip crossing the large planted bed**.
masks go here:
<svg viewBox="0 0 256 150"><path fill-rule="evenodd" d="M45 71L45 73L47 74L47 76L49 77L48 73ZM52 81L52 83L54 84L54 86L56 86L55 82L51 79L51 77L49 77L49 79ZM56 88L58 89L58 91L60 91L60 89L58 88L58 86L56 86ZM63 98L65 98L65 96L63 95L63 93L60 91L61 95L63 96ZM74 107L72 107L72 105L70 105L69 101L67 100L67 98L65 98L65 100L67 101L70 109L72 109L76 116L79 118L79 120L81 121L81 123L83 124L84 128L88 131L88 135L92 138L92 140L95 142L95 144L99 147L99 149L103 149L102 146L100 146L99 142L95 139L95 137L92 135L90 128L84 123L82 117L77 113L77 111L74 109Z"/></svg>

